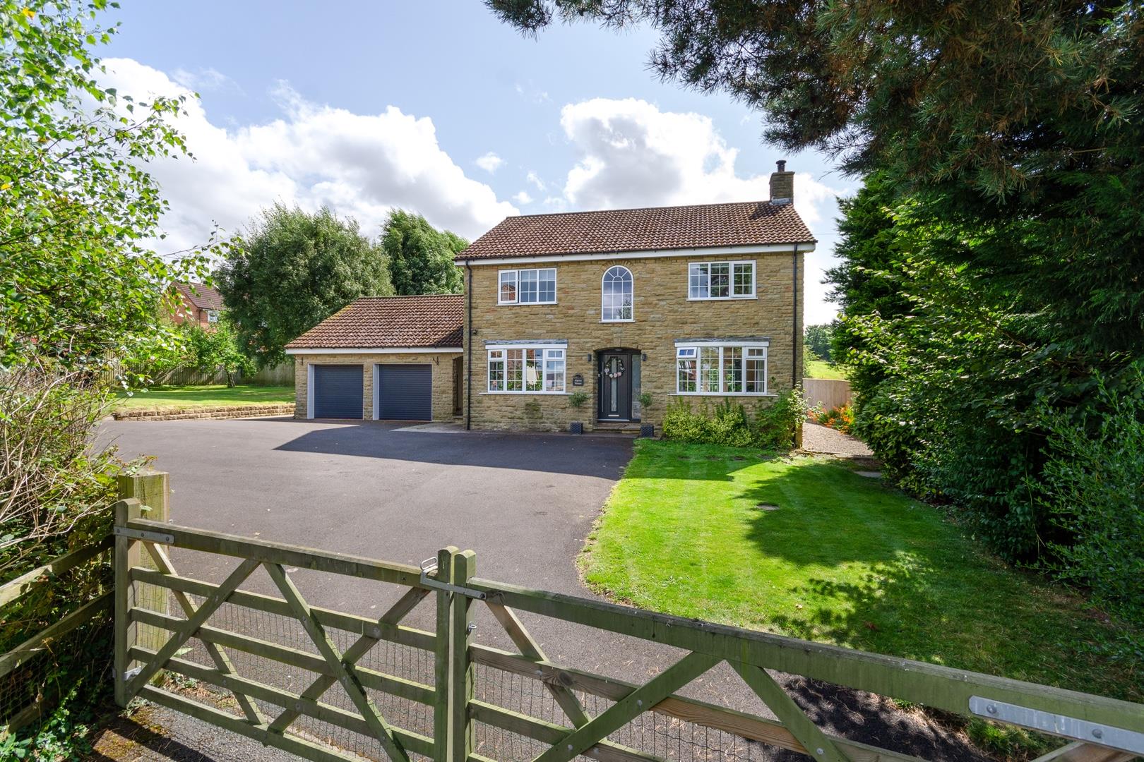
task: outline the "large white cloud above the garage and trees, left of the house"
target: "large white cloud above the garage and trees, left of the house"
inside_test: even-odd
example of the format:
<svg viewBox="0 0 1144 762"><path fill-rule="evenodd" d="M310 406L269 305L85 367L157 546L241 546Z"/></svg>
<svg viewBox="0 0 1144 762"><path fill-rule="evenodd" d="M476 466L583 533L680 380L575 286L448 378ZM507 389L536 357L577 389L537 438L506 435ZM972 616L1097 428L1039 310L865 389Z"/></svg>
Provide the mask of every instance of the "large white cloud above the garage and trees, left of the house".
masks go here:
<svg viewBox="0 0 1144 762"><path fill-rule="evenodd" d="M108 85L120 93L185 94L167 74L129 58L105 59ZM389 106L356 114L305 101L286 85L275 91L283 115L261 125L227 129L212 123L202 105L186 103L175 125L196 160L159 160L149 171L161 184L170 210L161 250L201 243L212 220L236 231L275 201L305 209L328 206L353 216L376 234L386 215L403 207L434 225L476 236L518 214L493 190L467 177L437 143L428 117Z"/></svg>

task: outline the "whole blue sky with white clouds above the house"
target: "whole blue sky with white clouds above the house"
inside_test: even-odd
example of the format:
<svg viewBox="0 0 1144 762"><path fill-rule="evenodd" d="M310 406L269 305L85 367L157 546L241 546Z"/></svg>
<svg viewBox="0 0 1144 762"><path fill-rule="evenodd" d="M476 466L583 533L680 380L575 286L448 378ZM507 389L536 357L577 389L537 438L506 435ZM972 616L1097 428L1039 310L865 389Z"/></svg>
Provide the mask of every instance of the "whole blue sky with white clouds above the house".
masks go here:
<svg viewBox="0 0 1144 762"><path fill-rule="evenodd" d="M820 241L807 321L833 315L820 273L835 194L855 183L763 145L760 115L728 96L660 82L653 30L526 39L477 0L125 0L108 18L122 22L103 50L114 85L201 98L178 121L197 161L154 167L173 248L276 200L329 206L367 234L399 206L471 239L508 214L765 199L787 159Z"/></svg>

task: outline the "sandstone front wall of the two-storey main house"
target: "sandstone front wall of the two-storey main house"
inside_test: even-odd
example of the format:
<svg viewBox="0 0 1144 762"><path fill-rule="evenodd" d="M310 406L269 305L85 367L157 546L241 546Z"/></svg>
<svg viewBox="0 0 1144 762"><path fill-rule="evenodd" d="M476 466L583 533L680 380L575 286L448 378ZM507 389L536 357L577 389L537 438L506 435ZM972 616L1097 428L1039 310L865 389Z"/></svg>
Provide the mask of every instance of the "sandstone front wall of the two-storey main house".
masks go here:
<svg viewBox="0 0 1144 762"><path fill-rule="evenodd" d="M754 299L688 299L688 265L692 262L755 262ZM464 340L472 342L472 427L485 430L567 431L573 420L586 431L596 420L596 352L630 348L648 354L641 363L641 391L652 396L643 410L642 423L657 431L667 406L676 400L692 407L705 402L714 407L723 399L741 403L748 410L773 402L778 392L791 388L792 379L802 378L802 312L805 255L797 255L799 300L794 304L793 258L789 251L718 256L648 257L595 259L582 262L472 265L472 321ZM635 294L635 320L625 323L601 322L601 279L613 265L631 271ZM517 267L555 267L556 304L498 305L498 272ZM476 330L476 336L472 335ZM797 338L795 339L795 335ZM686 395L675 393L675 339L766 336L769 396ZM485 342L567 340L565 394L490 394ZM792 342L796 345L792 347ZM795 368L792 369L792 348ZM590 359L589 359L590 358ZM792 374L792 370L794 371ZM583 377L583 386L573 386L572 377ZM588 393L588 401L577 409L569 394Z"/></svg>

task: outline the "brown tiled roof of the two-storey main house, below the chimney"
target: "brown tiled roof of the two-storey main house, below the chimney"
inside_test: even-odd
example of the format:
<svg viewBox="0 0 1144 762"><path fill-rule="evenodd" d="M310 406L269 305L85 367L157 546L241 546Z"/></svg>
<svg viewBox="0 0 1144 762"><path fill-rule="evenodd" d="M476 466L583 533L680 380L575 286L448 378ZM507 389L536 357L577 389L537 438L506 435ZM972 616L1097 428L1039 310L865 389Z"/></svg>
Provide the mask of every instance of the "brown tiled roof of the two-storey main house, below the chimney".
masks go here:
<svg viewBox="0 0 1144 762"><path fill-rule="evenodd" d="M508 217L456 259L813 242L793 203L750 201Z"/></svg>

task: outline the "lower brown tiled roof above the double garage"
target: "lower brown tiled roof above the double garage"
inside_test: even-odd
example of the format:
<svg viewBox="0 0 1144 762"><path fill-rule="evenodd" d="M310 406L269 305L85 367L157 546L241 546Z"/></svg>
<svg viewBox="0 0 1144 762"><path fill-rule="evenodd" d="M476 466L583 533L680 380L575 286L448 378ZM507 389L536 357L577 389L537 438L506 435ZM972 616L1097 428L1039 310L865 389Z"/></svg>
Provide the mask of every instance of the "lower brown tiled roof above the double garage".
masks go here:
<svg viewBox="0 0 1144 762"><path fill-rule="evenodd" d="M286 345L287 350L459 347L464 296L367 296Z"/></svg>

